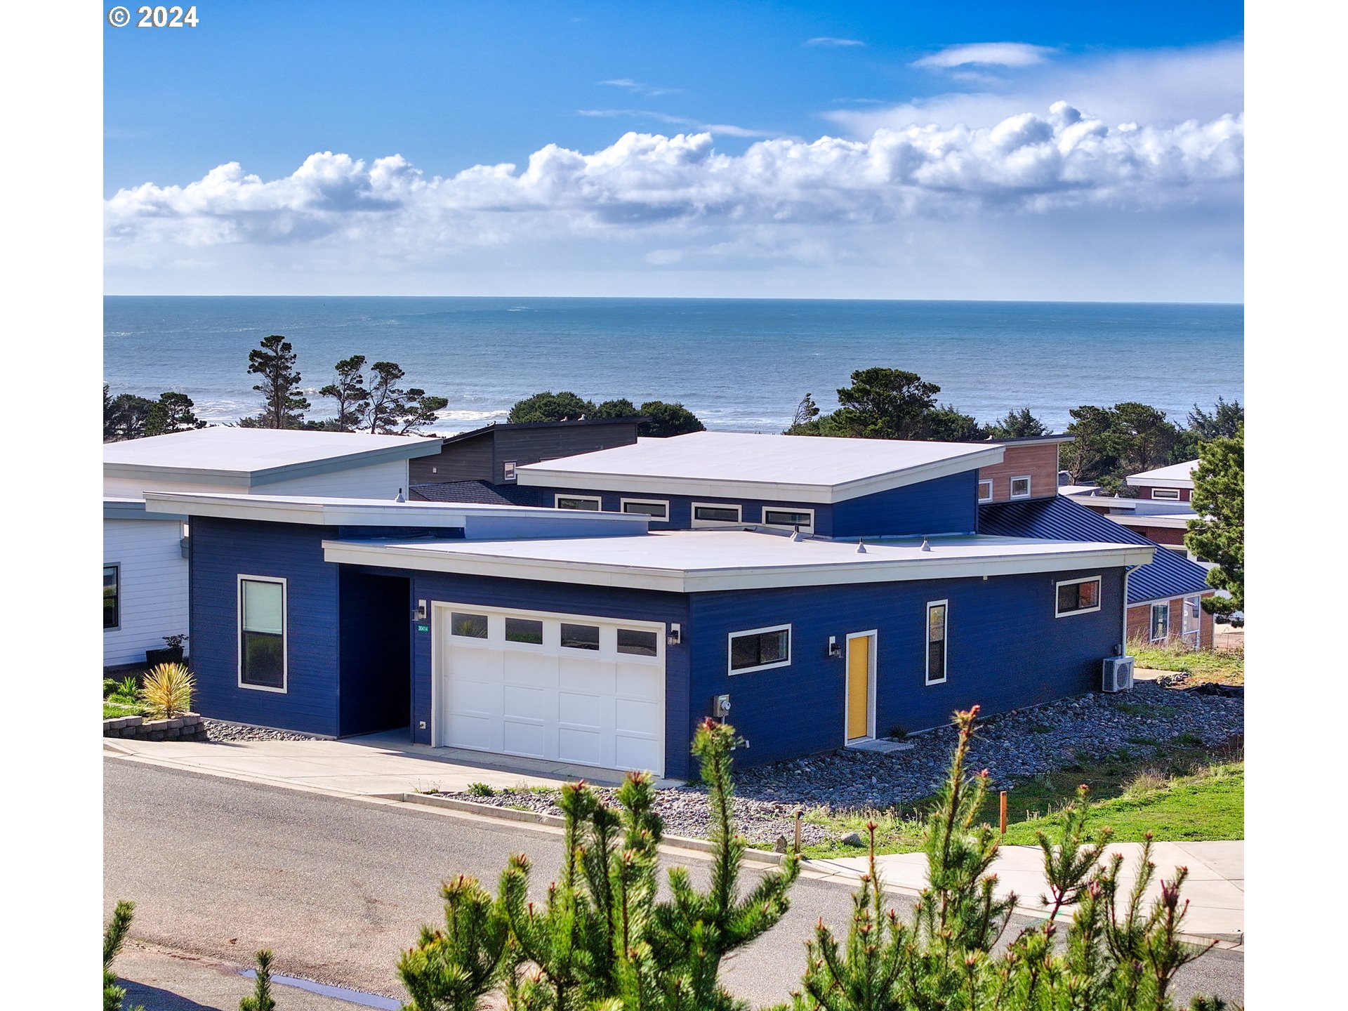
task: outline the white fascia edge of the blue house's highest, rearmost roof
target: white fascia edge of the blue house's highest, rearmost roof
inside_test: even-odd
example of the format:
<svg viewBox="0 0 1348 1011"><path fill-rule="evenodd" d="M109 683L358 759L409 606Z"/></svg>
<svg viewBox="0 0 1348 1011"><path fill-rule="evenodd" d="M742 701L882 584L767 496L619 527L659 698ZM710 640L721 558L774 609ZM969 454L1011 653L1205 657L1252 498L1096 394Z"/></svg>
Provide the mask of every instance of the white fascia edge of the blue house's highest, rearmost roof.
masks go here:
<svg viewBox="0 0 1348 1011"><path fill-rule="evenodd" d="M740 481L718 477L662 477L659 474L589 473L527 464L516 470L516 483L535 488L577 488L597 492L635 492L642 495L690 495L713 499L763 499L768 501L802 501L830 506L863 495L887 492L937 477L977 470L1000 464L1003 446L965 453L949 460L907 466L902 470L859 477L840 484L798 484L793 481Z"/></svg>

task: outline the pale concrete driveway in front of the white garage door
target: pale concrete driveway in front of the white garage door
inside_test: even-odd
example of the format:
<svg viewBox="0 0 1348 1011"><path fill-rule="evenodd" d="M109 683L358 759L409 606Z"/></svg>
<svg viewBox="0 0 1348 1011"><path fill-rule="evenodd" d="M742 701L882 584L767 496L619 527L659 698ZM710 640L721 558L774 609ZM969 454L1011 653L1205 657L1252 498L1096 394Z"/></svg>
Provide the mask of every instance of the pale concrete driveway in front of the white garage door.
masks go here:
<svg viewBox="0 0 1348 1011"><path fill-rule="evenodd" d="M133 762L222 775L298 790L356 795L557 786L585 779L613 786L623 774L526 758L485 755L462 748L412 744L407 731L344 740L268 741L104 741L104 749ZM661 780L673 782L673 780Z"/></svg>

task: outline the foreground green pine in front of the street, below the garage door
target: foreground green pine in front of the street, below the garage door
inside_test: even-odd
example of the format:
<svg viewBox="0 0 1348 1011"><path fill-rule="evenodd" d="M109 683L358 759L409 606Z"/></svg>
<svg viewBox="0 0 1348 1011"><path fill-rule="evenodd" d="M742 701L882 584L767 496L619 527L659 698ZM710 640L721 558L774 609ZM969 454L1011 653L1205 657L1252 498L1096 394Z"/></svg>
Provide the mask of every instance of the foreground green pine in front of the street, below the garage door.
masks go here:
<svg viewBox="0 0 1348 1011"><path fill-rule="evenodd" d="M731 809L735 732L708 720L694 739L708 783L714 849L712 883L693 887L669 872L658 899L663 826L647 774L628 774L617 810L584 782L562 789L565 855L542 903L528 899L531 864L511 857L496 900L472 879L446 884L442 930L422 930L399 962L415 1011L468 1011L503 985L512 1011L729 1011L743 1007L720 983L721 960L770 929L787 910L795 857L744 895L747 847Z"/></svg>

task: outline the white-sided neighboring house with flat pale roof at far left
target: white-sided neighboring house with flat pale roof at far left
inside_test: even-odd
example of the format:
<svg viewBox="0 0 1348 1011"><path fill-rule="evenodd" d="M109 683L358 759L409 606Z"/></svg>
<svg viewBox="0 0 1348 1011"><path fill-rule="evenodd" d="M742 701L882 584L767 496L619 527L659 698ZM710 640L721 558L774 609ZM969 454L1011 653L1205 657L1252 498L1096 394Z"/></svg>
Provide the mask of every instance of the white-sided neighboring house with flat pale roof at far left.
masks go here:
<svg viewBox="0 0 1348 1011"><path fill-rule="evenodd" d="M186 516L147 514L144 493L340 495L394 499L407 461L438 438L212 427L102 448L102 663L144 662L187 632ZM190 643L189 643L190 646Z"/></svg>

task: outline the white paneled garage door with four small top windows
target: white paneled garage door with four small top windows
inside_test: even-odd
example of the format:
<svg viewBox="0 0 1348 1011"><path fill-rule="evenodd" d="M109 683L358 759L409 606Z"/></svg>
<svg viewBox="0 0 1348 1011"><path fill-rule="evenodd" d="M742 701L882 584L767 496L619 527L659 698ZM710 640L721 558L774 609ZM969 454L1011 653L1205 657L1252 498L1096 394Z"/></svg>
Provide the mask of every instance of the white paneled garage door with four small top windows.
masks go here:
<svg viewBox="0 0 1348 1011"><path fill-rule="evenodd" d="M439 745L665 774L665 625L435 605Z"/></svg>

